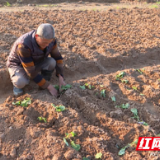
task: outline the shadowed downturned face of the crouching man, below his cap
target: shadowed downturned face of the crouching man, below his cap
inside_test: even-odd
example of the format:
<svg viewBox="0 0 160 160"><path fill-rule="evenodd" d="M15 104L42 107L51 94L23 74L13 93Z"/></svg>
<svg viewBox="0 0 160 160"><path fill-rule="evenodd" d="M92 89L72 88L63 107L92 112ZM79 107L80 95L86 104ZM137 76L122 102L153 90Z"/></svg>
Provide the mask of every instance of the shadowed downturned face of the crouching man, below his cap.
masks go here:
<svg viewBox="0 0 160 160"><path fill-rule="evenodd" d="M38 35L35 36L37 44L40 46L40 49L45 49L52 41L55 41L55 39L45 39L42 37L39 37Z"/></svg>

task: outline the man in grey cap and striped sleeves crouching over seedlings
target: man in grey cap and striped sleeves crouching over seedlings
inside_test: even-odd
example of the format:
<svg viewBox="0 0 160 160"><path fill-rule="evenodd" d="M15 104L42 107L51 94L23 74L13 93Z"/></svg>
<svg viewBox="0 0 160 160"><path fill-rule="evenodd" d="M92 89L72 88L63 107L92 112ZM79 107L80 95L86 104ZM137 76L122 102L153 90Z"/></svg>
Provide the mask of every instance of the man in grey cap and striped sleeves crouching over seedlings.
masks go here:
<svg viewBox="0 0 160 160"><path fill-rule="evenodd" d="M51 57L48 57L49 55ZM32 79L39 87L48 89L53 96L57 97L57 90L49 81L54 69L56 69L59 87L65 85L62 59L51 24L41 24L37 30L19 37L7 60L14 95L23 94L23 88Z"/></svg>

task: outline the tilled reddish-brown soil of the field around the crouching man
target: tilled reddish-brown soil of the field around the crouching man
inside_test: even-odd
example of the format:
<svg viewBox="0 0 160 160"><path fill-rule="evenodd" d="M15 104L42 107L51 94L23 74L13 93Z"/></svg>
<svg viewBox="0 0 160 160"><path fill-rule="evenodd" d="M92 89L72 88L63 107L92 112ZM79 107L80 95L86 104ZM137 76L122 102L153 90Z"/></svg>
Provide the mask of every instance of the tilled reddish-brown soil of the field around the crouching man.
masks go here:
<svg viewBox="0 0 160 160"><path fill-rule="evenodd" d="M160 133L160 10L95 8L1 8L0 160L95 160L97 153L102 160L159 159L159 152L137 152L136 145L122 156L118 152L140 136ZM55 27L72 87L56 99L31 82L16 98L5 61L13 42L41 23ZM54 75L52 82L58 84ZM12 104L26 97L28 107ZM57 112L52 104L66 110ZM133 108L139 119L132 118ZM63 140L72 131L79 151Z"/></svg>

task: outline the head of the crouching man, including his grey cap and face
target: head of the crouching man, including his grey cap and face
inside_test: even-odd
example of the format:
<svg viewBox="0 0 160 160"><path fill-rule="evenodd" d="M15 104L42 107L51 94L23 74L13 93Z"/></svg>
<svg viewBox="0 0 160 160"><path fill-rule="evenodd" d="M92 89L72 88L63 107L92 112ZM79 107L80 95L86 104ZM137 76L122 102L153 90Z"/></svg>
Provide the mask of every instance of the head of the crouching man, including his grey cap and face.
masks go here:
<svg viewBox="0 0 160 160"><path fill-rule="evenodd" d="M55 38L54 28L49 23L41 24L35 35L36 41L41 49L45 49Z"/></svg>

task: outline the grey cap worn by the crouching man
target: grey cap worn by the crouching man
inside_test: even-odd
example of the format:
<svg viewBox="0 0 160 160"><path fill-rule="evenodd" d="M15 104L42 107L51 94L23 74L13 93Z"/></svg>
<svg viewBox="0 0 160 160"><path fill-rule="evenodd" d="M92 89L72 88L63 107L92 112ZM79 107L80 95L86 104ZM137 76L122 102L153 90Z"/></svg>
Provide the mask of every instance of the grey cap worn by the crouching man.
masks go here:
<svg viewBox="0 0 160 160"><path fill-rule="evenodd" d="M41 24L38 27L36 34L38 34L40 37L45 38L45 39L53 39L53 38L55 38L54 28L49 23Z"/></svg>

